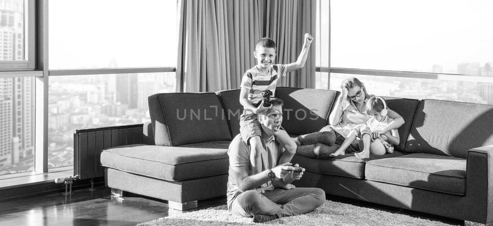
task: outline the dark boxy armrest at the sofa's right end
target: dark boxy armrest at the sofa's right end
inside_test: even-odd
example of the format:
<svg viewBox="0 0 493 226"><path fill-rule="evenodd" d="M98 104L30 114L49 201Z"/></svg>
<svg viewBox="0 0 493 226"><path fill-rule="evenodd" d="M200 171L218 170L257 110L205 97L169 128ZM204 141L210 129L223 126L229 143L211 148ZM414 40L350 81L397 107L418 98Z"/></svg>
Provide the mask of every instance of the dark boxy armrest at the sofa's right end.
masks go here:
<svg viewBox="0 0 493 226"><path fill-rule="evenodd" d="M482 223L493 225L493 145L467 151L466 196L469 208L486 216Z"/></svg>

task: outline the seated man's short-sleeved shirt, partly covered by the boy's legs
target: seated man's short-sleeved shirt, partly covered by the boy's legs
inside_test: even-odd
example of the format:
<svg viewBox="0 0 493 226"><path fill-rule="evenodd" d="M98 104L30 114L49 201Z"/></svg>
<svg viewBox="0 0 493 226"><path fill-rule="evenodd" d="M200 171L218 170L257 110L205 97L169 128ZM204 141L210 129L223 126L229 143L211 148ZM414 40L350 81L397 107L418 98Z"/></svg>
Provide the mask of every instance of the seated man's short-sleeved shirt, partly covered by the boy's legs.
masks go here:
<svg viewBox="0 0 493 226"><path fill-rule="evenodd" d="M266 140L264 142L263 139L262 146L264 147L262 150L262 168L261 170L267 170L273 168L278 165L279 157L281 156L284 148L275 140L274 136L270 140ZM231 171L231 167L235 166L248 166L248 175L252 175L251 172L251 164L250 164L250 146L246 145L243 141L242 136L240 134L236 135L236 137L231 141L231 144L228 148L228 156L229 156L229 170ZM274 189L271 181L268 181L265 184L262 184L260 188L265 191L271 191ZM235 184L235 180L231 173L228 176L228 205L233 201L238 194L241 194L238 187Z"/></svg>

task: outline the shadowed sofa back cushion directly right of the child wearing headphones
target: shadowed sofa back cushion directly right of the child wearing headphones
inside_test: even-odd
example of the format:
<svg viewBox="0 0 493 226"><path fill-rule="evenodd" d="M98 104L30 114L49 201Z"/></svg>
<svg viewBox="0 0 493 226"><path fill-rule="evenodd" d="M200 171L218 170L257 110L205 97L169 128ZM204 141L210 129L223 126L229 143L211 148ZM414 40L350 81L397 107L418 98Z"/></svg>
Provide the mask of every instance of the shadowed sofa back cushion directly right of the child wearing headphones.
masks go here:
<svg viewBox="0 0 493 226"><path fill-rule="evenodd" d="M414 112L418 108L419 100L396 97L383 97L388 108L397 112L404 119L404 125L397 129L399 131L400 142L394 147L394 150L404 152L406 148L407 137L413 123Z"/></svg>

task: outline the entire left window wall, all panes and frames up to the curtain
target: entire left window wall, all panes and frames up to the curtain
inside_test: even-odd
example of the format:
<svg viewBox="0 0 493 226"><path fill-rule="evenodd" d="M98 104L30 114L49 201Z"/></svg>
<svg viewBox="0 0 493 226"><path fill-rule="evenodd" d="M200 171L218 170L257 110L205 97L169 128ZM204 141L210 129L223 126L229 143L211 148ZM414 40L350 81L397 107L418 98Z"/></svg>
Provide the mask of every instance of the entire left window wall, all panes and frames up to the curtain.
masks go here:
<svg viewBox="0 0 493 226"><path fill-rule="evenodd" d="M147 97L174 91L176 3L0 0L0 175L72 165L74 129L150 121Z"/></svg>

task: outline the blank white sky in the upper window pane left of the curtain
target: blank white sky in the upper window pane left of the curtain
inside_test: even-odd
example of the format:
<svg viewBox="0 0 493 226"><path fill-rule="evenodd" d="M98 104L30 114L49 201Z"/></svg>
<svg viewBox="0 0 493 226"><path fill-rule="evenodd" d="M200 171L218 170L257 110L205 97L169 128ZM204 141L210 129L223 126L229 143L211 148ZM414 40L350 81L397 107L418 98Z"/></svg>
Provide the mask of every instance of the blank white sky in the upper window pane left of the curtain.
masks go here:
<svg viewBox="0 0 493 226"><path fill-rule="evenodd" d="M176 65L176 0L48 3L50 69Z"/></svg>

